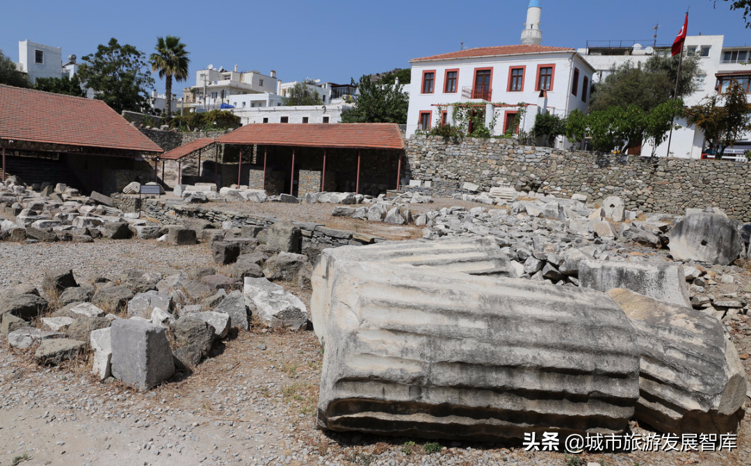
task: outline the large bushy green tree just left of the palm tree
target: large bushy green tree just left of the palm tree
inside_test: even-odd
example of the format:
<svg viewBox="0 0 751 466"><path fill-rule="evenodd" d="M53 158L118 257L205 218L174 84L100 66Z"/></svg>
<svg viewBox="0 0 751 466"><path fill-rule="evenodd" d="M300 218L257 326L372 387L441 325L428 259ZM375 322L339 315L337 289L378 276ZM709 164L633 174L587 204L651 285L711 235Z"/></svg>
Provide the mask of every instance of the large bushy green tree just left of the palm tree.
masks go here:
<svg viewBox="0 0 751 466"><path fill-rule="evenodd" d="M96 53L83 57L78 75L84 86L93 89L95 98L117 113L148 111L148 90L154 88L154 79L144 58L137 48L111 38L107 45L99 44Z"/></svg>

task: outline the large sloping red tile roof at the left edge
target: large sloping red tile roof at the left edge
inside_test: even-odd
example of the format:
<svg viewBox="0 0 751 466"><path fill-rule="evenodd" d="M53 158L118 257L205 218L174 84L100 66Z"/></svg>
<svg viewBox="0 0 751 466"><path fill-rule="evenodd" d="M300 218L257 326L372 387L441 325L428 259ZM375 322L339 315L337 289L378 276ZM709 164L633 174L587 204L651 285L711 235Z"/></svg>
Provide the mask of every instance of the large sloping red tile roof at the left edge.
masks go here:
<svg viewBox="0 0 751 466"><path fill-rule="evenodd" d="M104 101L4 85L0 140L164 152Z"/></svg>

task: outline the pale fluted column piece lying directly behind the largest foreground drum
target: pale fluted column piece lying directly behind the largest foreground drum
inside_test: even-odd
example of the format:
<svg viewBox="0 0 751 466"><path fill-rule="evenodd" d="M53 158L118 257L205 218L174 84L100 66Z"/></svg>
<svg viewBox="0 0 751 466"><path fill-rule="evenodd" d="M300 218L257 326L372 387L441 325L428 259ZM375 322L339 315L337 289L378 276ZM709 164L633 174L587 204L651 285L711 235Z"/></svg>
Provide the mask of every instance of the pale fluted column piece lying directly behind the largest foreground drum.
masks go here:
<svg viewBox="0 0 751 466"><path fill-rule="evenodd" d="M326 326L333 282L328 278L338 263L389 262L395 265L430 266L446 272L516 278L517 272L493 238L394 241L367 246L324 249L313 267L310 312L315 329ZM324 339L318 333L318 340Z"/></svg>

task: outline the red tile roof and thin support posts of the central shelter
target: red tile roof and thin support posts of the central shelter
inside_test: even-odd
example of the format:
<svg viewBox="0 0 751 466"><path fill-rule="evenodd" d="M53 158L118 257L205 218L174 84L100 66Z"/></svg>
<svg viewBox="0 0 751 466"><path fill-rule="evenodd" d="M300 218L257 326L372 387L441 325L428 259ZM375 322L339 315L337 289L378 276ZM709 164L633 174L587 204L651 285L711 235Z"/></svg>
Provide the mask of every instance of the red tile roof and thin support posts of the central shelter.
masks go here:
<svg viewBox="0 0 751 466"><path fill-rule="evenodd" d="M388 161L391 163L391 155L394 152L399 153L397 167L397 188L399 187L399 177L401 173L402 152L404 150L404 140L399 126L395 123L342 123L337 125L328 124L256 124L245 125L231 133L225 134L217 139L218 143L233 144L239 146L285 146L291 148L291 176L287 176L289 181L289 193L294 194L295 184L297 182L295 170L295 148L319 148L323 152L323 161L321 167L320 186L323 191L326 186L326 157L327 150L332 149L354 149L357 151L357 171L354 173L354 191L360 192L360 155L361 150L370 151L369 153L378 153L377 151L386 151L390 155ZM373 152L376 151L376 152ZM264 149L263 177L264 188L266 186L267 176L267 150ZM260 154L260 152L259 152ZM370 159L366 161L372 162ZM288 168L289 168L288 167ZM354 164L351 166L354 171ZM242 169L242 155L237 167L237 184L240 184L240 172ZM318 170L316 168L316 170ZM367 170L367 169L366 169Z"/></svg>

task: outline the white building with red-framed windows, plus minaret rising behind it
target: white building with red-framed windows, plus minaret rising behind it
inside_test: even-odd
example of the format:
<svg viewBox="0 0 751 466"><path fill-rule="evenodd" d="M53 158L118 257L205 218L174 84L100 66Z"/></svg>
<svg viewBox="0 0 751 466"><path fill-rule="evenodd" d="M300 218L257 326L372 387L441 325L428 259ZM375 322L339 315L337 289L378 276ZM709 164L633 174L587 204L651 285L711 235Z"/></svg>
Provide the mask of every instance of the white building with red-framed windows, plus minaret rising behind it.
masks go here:
<svg viewBox="0 0 751 466"><path fill-rule="evenodd" d="M539 45L540 17L539 0L531 0L527 23L533 28L522 33L526 44L411 60L407 137L439 122L457 124L453 120L456 106L451 104L484 107L484 123L493 125L489 128L493 135L514 131L519 104L526 107L520 128L527 132L537 113L568 116L573 110L586 110L595 70L574 49ZM563 143L558 141L559 146Z"/></svg>

